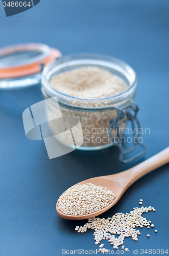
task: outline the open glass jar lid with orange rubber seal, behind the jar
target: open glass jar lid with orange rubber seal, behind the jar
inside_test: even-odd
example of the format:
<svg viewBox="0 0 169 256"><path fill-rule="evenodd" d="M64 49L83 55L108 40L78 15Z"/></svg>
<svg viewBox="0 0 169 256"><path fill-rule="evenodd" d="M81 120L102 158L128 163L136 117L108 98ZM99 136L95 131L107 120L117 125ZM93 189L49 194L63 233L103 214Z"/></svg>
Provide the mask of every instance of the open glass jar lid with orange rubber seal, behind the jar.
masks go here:
<svg viewBox="0 0 169 256"><path fill-rule="evenodd" d="M41 81L44 66L61 52L43 44L21 44L0 49L0 90L21 89Z"/></svg>

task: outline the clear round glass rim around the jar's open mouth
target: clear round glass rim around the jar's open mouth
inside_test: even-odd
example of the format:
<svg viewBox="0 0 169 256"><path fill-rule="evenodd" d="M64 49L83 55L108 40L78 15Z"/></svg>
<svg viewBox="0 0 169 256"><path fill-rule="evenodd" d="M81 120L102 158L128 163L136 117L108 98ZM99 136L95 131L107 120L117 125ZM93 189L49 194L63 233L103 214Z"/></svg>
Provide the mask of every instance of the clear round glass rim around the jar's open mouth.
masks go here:
<svg viewBox="0 0 169 256"><path fill-rule="evenodd" d="M95 61L102 61L103 63L107 63L108 67L110 68L111 66L115 68L120 68L121 72L117 69L115 69L115 73L116 74L120 74L120 76L122 76L123 78L125 78L128 82L129 82L129 87L122 93L117 94L117 95L112 95L112 96L108 96L108 97L102 97L102 98L83 98L83 97L75 97L75 96L71 96L68 94L64 94L56 89L54 89L51 84L49 83L50 77L53 75L53 73L55 72L55 67L57 67L57 70L59 71L60 68L63 66L62 64L67 63L69 64L69 62L75 63L76 60L81 60L81 65L82 63L84 63L85 61L85 65L91 66L91 64L89 63L89 60L95 60ZM93 66L97 66L97 65L93 65ZM68 65L68 67L70 68L71 66ZM99 66L98 66L99 67ZM102 66L102 67L107 67L107 66ZM76 67L78 68L78 66ZM53 71L54 70L54 71ZM123 72L122 72L123 71ZM127 75L126 75L127 74ZM127 79L128 76L128 80ZM59 96L59 98L63 98L65 100L83 100L83 101L89 101L89 102L95 102L95 101L106 101L106 100L111 100L112 103L116 103L119 101L122 101L126 98L128 98L133 91L135 91L136 88L136 84L137 84L137 77L136 77L136 73L135 71L123 60L115 58L115 57L111 57L109 55L103 55L103 54L95 54L95 53L76 53L76 54L70 54L70 55L66 55L62 58L58 58L57 60L55 60L54 62L52 62L51 64L47 65L43 72L42 72L42 88L45 91L45 93L47 94L47 96L50 97L54 97L54 96Z"/></svg>

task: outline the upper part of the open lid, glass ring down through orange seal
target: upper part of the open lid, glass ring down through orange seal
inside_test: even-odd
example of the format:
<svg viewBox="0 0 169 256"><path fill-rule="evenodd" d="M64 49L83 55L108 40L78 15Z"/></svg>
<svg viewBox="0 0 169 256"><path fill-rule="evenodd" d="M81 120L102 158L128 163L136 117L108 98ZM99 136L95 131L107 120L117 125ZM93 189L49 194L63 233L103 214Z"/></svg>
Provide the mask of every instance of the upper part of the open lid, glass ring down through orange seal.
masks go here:
<svg viewBox="0 0 169 256"><path fill-rule="evenodd" d="M38 55L29 52L38 53ZM27 43L0 49L0 80L18 79L41 72L41 63L47 65L60 57L61 52L47 45ZM1 63L2 62L2 63ZM1 88L1 86L0 86Z"/></svg>

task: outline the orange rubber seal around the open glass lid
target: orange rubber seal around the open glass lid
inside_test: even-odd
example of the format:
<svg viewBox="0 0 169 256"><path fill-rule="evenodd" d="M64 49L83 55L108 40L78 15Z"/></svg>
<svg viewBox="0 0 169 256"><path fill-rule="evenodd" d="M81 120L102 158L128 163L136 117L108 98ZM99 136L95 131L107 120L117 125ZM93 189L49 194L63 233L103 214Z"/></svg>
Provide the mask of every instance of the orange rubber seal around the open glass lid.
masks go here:
<svg viewBox="0 0 169 256"><path fill-rule="evenodd" d="M1 51L0 51L0 56L1 56ZM61 57L61 56L62 54L59 50L50 48L50 53L46 57L38 61L27 63L26 65L22 65L22 66L0 68L0 79L23 77L23 76L29 76L29 75L40 73L41 63L43 63L44 66L46 66L47 64L53 62L57 57Z"/></svg>

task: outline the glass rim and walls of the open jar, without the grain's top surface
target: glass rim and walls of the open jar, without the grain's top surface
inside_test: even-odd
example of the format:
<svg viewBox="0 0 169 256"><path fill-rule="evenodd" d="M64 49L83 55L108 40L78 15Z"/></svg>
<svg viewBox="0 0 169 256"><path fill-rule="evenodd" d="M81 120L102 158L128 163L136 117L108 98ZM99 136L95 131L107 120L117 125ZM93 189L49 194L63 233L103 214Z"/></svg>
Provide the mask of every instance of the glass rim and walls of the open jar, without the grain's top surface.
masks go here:
<svg viewBox="0 0 169 256"><path fill-rule="evenodd" d="M97 67L116 74L125 81L126 90L118 95L106 98L79 98L66 95L51 86L50 80L58 74L84 67ZM63 125L49 123L52 134L62 134L68 127L70 129L75 127L80 120L83 143L78 147L79 150L100 150L113 145L109 134L110 122L117 119L120 110L128 109L135 96L136 84L137 79L134 70L127 63L113 57L95 54L73 54L56 60L44 68L41 87L45 99L57 96L47 104L46 114L49 120L57 116L58 105L54 102L54 99L57 99L65 121L64 129ZM124 131L125 127L126 116L123 116L119 122L119 130ZM73 133L76 138L75 142L77 141L76 144L78 144L79 134L80 131L76 127ZM114 137L116 137L115 135L117 136L116 131L114 131ZM69 142L67 137L60 137L61 143L74 147L71 141Z"/></svg>

